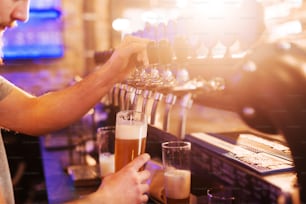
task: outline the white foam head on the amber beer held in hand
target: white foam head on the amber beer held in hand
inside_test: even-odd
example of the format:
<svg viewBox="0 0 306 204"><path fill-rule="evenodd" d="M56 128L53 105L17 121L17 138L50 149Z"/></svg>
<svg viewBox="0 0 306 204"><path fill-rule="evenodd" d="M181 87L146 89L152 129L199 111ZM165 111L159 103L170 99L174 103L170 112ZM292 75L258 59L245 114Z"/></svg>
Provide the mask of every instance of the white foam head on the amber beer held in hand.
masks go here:
<svg viewBox="0 0 306 204"><path fill-rule="evenodd" d="M133 123L132 125L117 124L116 138L124 140L135 140L145 138L147 136L147 124Z"/></svg>

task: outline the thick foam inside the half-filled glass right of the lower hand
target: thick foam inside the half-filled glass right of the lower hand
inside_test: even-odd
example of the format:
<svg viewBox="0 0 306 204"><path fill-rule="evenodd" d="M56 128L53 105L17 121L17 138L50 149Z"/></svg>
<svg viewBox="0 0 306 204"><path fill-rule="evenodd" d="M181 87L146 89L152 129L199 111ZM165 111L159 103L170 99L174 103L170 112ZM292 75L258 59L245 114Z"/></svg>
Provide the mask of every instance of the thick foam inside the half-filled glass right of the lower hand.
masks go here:
<svg viewBox="0 0 306 204"><path fill-rule="evenodd" d="M164 182L166 196L173 199L189 197L191 173L188 170L171 169L165 171Z"/></svg>

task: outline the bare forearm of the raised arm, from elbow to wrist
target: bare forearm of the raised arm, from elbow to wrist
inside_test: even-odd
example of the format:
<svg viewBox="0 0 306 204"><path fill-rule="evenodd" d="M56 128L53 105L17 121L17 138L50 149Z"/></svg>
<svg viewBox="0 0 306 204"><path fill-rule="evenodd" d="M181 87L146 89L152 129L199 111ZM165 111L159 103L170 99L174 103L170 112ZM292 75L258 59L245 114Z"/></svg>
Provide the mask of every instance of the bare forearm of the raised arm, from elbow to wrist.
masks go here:
<svg viewBox="0 0 306 204"><path fill-rule="evenodd" d="M108 93L116 82L111 68L105 64L71 87L25 100L24 106L16 104L19 111L14 109L6 113L7 117L12 117L6 120L11 121L8 128L30 135L41 135L68 126Z"/></svg>

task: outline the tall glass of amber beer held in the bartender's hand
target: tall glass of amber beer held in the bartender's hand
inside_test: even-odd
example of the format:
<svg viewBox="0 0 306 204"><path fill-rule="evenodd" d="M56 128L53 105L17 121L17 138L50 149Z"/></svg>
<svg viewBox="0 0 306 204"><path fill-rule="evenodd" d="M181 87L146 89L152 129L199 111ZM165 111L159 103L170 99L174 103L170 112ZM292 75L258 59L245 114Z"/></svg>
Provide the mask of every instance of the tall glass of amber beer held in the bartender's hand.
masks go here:
<svg viewBox="0 0 306 204"><path fill-rule="evenodd" d="M120 111L116 115L115 171L145 152L147 117L134 110Z"/></svg>

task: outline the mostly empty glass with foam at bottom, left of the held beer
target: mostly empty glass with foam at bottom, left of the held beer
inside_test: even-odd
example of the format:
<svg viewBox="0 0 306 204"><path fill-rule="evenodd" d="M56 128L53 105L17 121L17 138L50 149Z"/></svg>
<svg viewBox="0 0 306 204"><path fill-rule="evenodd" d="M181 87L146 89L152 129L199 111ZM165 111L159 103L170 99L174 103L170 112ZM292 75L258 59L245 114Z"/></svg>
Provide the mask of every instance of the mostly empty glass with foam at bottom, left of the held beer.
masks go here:
<svg viewBox="0 0 306 204"><path fill-rule="evenodd" d="M105 126L97 129L97 145L99 153L100 175L114 173L115 126Z"/></svg>

